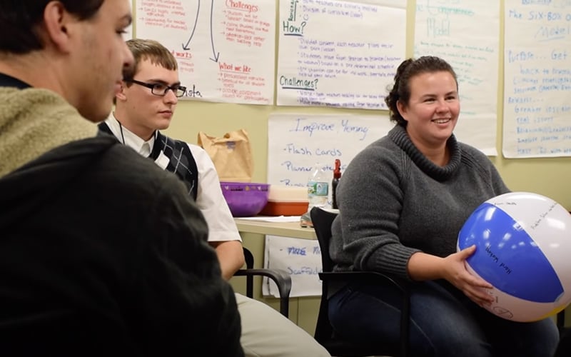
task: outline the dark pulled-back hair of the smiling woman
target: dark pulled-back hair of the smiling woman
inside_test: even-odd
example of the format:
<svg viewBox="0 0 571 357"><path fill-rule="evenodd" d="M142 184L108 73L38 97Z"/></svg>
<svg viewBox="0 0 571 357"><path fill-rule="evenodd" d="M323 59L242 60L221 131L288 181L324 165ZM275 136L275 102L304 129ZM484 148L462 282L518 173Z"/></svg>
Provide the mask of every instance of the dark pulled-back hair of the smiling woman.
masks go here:
<svg viewBox="0 0 571 357"><path fill-rule="evenodd" d="M388 106L390 121L394 121L400 126L406 126L407 121L400 115L397 103L408 105L410 99L410 79L418 74L447 71L452 74L458 88L458 79L447 61L435 56L422 56L418 59L406 59L398 66L395 74L395 84L391 89L388 86L388 96L385 97L385 104Z"/></svg>

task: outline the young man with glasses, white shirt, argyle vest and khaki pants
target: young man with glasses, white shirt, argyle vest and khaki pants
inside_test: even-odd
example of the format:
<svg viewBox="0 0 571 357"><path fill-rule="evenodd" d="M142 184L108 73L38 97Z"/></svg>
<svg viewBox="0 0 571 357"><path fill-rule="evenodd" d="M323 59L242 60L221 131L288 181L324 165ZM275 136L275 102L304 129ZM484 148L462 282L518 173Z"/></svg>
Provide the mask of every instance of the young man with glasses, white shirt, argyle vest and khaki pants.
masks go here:
<svg viewBox="0 0 571 357"><path fill-rule="evenodd" d="M216 250L222 275L229 279L243 266L244 257L214 164L199 146L159 132L171 124L178 97L185 91L178 80L176 59L157 41L133 39L127 41L127 46L135 66L126 73L121 91L116 94L115 111L100 129L162 169L174 172L186 184L208 223L208 242ZM265 303L238 293L236 301L246 356L329 356L313 337Z"/></svg>

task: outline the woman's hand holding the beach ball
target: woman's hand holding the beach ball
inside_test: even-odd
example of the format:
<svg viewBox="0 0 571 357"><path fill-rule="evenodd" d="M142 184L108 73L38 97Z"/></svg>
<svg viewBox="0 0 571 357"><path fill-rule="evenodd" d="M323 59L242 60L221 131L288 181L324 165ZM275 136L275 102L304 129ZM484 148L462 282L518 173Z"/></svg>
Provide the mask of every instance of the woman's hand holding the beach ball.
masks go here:
<svg viewBox="0 0 571 357"><path fill-rule="evenodd" d="M456 288L465 293L470 300L483 307L492 303L494 298L487 292L487 289L492 288L492 285L482 278L473 276L466 270L466 259L475 251L476 246L469 246L458 253L450 254L450 256L444 258L443 276Z"/></svg>

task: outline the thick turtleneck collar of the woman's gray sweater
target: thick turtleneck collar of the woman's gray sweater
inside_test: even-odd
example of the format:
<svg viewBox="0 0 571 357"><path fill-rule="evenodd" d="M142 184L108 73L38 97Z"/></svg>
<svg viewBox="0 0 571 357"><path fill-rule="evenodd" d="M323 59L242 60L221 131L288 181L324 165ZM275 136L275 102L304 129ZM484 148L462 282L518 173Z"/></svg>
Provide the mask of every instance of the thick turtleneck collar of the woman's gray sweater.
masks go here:
<svg viewBox="0 0 571 357"><path fill-rule="evenodd" d="M420 170L437 181L445 181L450 178L460 166L462 151L454 134L446 142L446 146L450 150L450 161L445 166L434 164L421 153L413 141L410 141L410 137L403 126L396 125L389 131L388 136L400 149L403 149Z"/></svg>

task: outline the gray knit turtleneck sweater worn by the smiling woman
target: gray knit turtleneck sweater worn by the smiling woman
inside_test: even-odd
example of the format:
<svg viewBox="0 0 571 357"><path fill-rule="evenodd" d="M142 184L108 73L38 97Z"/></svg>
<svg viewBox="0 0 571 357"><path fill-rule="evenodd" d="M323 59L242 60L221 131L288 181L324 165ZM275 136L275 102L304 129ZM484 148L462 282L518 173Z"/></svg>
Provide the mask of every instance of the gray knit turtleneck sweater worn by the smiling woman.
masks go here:
<svg viewBox="0 0 571 357"><path fill-rule="evenodd" d="M382 271L408 278L410 256L448 256L458 231L488 198L509 191L477 149L448 139L450 162L437 166L405 129L370 144L350 162L338 186L340 214L330 243L335 270Z"/></svg>

